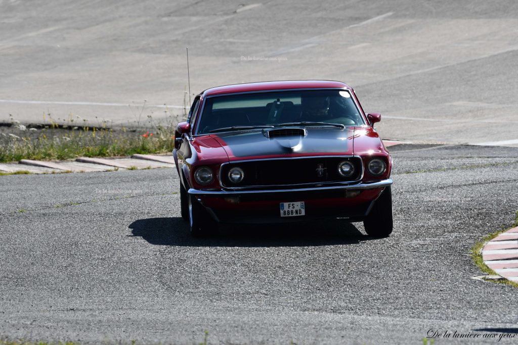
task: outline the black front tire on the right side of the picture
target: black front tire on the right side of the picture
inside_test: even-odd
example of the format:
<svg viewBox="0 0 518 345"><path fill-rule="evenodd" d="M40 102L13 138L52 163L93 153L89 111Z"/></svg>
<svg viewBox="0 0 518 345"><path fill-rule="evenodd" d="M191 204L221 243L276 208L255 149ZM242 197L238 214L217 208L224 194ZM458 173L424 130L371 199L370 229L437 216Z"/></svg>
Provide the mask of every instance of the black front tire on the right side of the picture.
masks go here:
<svg viewBox="0 0 518 345"><path fill-rule="evenodd" d="M385 187L363 221L365 232L373 237L388 237L392 233L392 190Z"/></svg>

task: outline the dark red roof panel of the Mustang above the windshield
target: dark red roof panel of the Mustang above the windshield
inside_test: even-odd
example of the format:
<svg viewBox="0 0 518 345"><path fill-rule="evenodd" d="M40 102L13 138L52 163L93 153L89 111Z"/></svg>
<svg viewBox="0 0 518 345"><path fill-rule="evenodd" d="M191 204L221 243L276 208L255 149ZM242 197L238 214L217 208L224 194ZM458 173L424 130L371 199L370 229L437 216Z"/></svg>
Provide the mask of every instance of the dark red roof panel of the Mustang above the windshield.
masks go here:
<svg viewBox="0 0 518 345"><path fill-rule="evenodd" d="M202 94L206 96L235 94L241 92L289 90L300 88L348 88L346 83L332 80L282 80L211 87Z"/></svg>

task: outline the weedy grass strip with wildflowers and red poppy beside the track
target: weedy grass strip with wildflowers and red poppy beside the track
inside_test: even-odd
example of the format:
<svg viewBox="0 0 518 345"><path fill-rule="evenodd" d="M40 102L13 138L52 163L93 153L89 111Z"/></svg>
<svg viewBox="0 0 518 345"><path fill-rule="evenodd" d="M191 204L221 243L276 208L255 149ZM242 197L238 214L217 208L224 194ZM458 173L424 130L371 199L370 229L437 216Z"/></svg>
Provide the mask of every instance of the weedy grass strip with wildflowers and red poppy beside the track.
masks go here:
<svg viewBox="0 0 518 345"><path fill-rule="evenodd" d="M44 114L40 124L27 128L10 115L10 124L0 127L0 162L171 152L176 125L186 117L185 112L172 115L166 109L160 122L155 122L152 115L141 122L144 109L145 104L133 125L115 130L109 127L109 120L96 118L97 123L92 125L88 119L72 114L64 119Z"/></svg>

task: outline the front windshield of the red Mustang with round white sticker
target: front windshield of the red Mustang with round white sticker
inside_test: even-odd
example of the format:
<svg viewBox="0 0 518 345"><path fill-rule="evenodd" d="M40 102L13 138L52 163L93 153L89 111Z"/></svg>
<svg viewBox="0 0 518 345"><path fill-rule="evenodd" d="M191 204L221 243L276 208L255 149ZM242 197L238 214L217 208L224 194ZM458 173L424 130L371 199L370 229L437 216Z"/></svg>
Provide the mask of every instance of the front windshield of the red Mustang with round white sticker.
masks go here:
<svg viewBox="0 0 518 345"><path fill-rule="evenodd" d="M311 122L365 125L346 90L276 91L207 97L196 134Z"/></svg>

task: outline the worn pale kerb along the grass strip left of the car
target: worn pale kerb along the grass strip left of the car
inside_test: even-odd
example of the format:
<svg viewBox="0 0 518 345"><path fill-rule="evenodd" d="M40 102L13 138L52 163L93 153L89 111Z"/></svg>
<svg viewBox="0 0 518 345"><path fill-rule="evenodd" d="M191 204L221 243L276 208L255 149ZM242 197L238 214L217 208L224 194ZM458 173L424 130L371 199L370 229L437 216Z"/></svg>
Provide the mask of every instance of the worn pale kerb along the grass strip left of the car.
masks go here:
<svg viewBox="0 0 518 345"><path fill-rule="evenodd" d="M67 161L41 161L22 159L18 163L1 163L0 171L16 173L28 171L33 174L60 172L95 172L126 169L172 168L175 161L170 155L133 155L131 158L79 157Z"/></svg>

